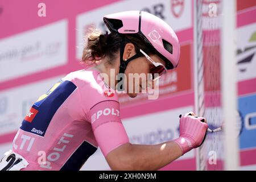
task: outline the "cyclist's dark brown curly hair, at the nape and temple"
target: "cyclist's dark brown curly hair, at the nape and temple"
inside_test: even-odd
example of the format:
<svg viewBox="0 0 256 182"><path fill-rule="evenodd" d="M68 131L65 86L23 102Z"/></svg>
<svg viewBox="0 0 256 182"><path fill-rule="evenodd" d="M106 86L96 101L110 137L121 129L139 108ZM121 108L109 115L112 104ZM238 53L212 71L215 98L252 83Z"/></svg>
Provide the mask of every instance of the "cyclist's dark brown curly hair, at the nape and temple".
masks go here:
<svg viewBox="0 0 256 182"><path fill-rule="evenodd" d="M136 44L141 49L148 49L146 43L136 35L125 35L126 39ZM82 51L82 63L92 64L97 60L107 57L109 64L114 64L117 53L120 49L122 36L117 32L102 34L95 28L90 29L86 34L86 45Z"/></svg>

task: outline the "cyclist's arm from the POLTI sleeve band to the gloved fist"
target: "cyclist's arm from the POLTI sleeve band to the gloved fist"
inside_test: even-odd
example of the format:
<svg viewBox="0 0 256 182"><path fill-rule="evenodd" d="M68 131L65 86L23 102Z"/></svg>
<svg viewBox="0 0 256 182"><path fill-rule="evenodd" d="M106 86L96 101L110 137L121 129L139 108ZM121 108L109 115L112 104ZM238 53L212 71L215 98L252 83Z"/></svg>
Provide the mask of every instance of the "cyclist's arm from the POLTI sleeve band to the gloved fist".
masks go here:
<svg viewBox="0 0 256 182"><path fill-rule="evenodd" d="M173 141L156 145L130 144L118 113L119 103L115 100L98 102L90 109L94 137L113 170L162 168L199 146L207 131L207 124L200 121L202 118L191 114L180 118L181 134Z"/></svg>

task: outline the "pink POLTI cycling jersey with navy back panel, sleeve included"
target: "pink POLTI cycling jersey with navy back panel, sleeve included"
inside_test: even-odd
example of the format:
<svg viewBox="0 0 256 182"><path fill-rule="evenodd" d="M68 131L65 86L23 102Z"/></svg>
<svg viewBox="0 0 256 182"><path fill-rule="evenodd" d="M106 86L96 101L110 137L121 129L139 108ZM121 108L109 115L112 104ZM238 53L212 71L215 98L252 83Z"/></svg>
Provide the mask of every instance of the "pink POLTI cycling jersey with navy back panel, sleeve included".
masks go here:
<svg viewBox="0 0 256 182"><path fill-rule="evenodd" d="M129 142L119 115L118 96L100 72L69 73L32 105L13 151L27 160L23 170L79 170L98 146L106 156Z"/></svg>

